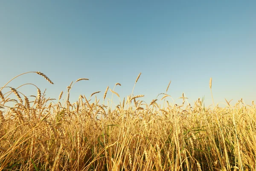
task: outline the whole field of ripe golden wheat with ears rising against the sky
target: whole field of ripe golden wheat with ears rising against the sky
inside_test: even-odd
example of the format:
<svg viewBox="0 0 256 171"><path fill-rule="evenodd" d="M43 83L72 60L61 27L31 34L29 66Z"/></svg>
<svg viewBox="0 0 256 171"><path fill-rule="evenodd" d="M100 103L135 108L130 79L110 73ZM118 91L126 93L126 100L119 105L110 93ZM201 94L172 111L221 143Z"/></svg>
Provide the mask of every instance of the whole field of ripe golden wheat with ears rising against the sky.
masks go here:
<svg viewBox="0 0 256 171"><path fill-rule="evenodd" d="M43 73L34 73L53 84ZM88 79L76 82L81 80ZM227 107L213 103L206 108L201 99L184 106L182 94L181 105L169 103L169 82L158 99L162 106L157 99L145 104L143 95L131 93L111 109L104 101L108 90L120 98L114 90L119 83L113 90L107 87L102 104L99 92L80 95L71 104L76 82L58 100L34 84L37 96L25 96L18 89L26 84L13 88L9 82L0 88L0 170L256 170L256 110L242 99L235 106L227 101Z"/></svg>

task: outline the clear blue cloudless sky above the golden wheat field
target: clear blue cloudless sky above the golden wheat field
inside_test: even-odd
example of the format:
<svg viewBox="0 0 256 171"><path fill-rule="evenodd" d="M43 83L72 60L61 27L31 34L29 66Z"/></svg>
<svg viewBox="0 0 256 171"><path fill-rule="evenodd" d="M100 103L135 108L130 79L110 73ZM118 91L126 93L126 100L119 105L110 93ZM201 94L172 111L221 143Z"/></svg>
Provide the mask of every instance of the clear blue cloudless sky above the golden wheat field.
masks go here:
<svg viewBox="0 0 256 171"><path fill-rule="evenodd" d="M150 102L184 92L205 104L256 100L256 1L241 0L2 0L0 2L0 87L34 83L58 99L71 81L71 101L115 83L121 99L132 91ZM9 90L9 89L8 89ZM19 89L27 96L37 90ZM7 91L7 89L4 89ZM111 99L111 93L107 96ZM159 99L160 100L160 99ZM114 96L114 101L118 98ZM171 99L169 99L171 101ZM177 103L182 103L179 99Z"/></svg>

